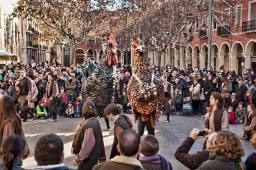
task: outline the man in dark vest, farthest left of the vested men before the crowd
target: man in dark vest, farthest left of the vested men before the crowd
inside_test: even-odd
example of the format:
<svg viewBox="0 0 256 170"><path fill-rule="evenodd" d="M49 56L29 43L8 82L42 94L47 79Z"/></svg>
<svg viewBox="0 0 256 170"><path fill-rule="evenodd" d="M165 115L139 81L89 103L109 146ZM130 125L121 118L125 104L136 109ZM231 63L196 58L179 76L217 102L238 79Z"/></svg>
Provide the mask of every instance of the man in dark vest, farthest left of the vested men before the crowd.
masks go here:
<svg viewBox="0 0 256 170"><path fill-rule="evenodd" d="M21 69L20 70L20 80L18 80L19 88L20 88L20 108L23 113L23 122L27 121L27 108L28 108L28 100L30 100L29 96L32 89L32 82L31 80L26 76L26 70Z"/></svg>

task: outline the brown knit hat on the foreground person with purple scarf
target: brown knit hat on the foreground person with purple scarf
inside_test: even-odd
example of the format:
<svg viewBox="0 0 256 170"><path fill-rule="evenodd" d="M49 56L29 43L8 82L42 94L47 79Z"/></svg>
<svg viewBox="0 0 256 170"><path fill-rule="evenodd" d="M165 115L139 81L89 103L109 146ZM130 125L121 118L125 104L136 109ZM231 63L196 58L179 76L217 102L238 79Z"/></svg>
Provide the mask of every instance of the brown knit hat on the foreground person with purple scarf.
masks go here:
<svg viewBox="0 0 256 170"><path fill-rule="evenodd" d="M153 135L143 137L140 145L142 146L140 153L145 156L156 155L159 151L159 142Z"/></svg>

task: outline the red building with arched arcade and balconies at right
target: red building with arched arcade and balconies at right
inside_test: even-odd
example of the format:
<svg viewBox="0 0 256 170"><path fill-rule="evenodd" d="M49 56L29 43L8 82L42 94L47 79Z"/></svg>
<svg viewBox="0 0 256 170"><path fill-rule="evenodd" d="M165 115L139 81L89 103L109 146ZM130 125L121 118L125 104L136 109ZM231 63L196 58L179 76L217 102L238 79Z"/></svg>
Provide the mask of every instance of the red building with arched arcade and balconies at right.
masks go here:
<svg viewBox="0 0 256 170"><path fill-rule="evenodd" d="M246 69L256 69L256 0L239 1L236 6L229 6L219 12L234 14L235 24L231 26L224 23L213 14L211 66L215 70L224 66L226 70L235 70L239 74ZM202 22L203 17L198 17L194 27L197 28ZM186 69L187 64L192 64L192 67L199 69L207 68L207 25L208 23L205 23L205 27L192 33L186 46L166 49L161 57L161 66L171 64L173 67ZM182 34L181 40L185 36L186 33ZM149 55L151 64L156 64L155 51L149 51ZM181 66L181 57L185 58L186 66Z"/></svg>

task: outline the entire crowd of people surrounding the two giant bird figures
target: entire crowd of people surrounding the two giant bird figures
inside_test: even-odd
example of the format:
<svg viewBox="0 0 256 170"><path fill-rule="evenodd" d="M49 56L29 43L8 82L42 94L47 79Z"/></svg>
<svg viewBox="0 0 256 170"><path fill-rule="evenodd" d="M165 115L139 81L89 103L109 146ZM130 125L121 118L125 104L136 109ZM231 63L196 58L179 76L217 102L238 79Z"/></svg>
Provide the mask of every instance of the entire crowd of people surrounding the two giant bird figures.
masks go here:
<svg viewBox="0 0 256 170"><path fill-rule="evenodd" d="M226 72L223 67L219 72L211 67L192 69L190 65L187 70L154 65L151 69L163 81L164 101L160 109L167 116L166 122L171 114L202 114L205 119L205 129L192 130L177 148L174 155L177 160L190 169L217 169L216 165L219 169L255 169L255 153L243 163L244 150L239 137L229 132L229 124L244 124L241 138L256 147L254 70L247 69L245 74L238 75ZM99 115L93 101L83 101L80 70L80 64L64 67L54 60L50 64L34 61L27 65L0 64L0 168L18 169L21 160L30 154L22 121L48 118L56 121L64 116L84 119L75 130L72 144L73 164L78 169L172 169L171 163L158 155L157 138L153 135L141 138L132 121L123 114L131 113L126 94L132 75L130 66L118 69L115 100L104 111L114 121L114 142L110 160L106 161ZM107 129L112 130L109 124ZM200 135L205 138L203 151L189 154ZM68 169L62 163L63 150L61 138L44 135L35 145L38 166L30 169Z"/></svg>

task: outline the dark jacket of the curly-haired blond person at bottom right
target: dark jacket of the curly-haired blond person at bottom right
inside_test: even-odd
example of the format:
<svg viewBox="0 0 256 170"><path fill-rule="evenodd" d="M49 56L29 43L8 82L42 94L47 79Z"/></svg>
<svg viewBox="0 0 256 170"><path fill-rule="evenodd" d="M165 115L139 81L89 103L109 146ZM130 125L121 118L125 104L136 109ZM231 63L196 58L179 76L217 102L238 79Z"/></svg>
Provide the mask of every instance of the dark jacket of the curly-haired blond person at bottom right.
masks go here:
<svg viewBox="0 0 256 170"><path fill-rule="evenodd" d="M216 170L216 169L226 170L226 169L237 169L237 168L233 159L226 158L225 156L216 156L214 160L208 160L198 168L198 170Z"/></svg>

